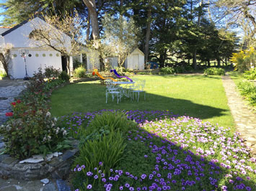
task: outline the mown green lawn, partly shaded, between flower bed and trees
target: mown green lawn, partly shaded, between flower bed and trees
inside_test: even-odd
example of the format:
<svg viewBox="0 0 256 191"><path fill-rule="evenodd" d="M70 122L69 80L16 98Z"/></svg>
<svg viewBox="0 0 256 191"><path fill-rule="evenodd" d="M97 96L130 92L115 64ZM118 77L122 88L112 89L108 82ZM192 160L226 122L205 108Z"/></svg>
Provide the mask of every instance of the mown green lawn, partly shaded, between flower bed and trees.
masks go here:
<svg viewBox="0 0 256 191"><path fill-rule="evenodd" d="M122 100L119 104L109 98L105 103L105 85L100 81L66 85L51 96L53 116L101 109L169 110L175 114L200 118L221 126L234 126L226 95L219 76L204 75L141 75L146 80L146 101ZM143 96L141 96L143 97Z"/></svg>

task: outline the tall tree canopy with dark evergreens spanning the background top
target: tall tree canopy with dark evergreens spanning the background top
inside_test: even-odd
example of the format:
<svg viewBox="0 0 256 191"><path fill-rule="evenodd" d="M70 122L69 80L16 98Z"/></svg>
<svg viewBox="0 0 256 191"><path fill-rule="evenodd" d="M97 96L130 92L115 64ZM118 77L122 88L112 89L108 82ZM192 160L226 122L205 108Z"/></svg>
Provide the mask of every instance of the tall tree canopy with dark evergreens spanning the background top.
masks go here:
<svg viewBox="0 0 256 191"><path fill-rule="evenodd" d="M229 60L239 42L236 33L231 32L234 27L244 31L241 44L255 42L255 4L251 0L7 0L1 4L6 10L1 13L5 16L1 24L14 26L42 13L68 17L77 11L83 20L81 35L86 36L88 45L94 41L94 48L100 49L109 27L118 29L117 24L104 24L108 13L113 19L134 21L140 29L136 35L138 47L146 61L157 60L164 66L179 59L197 67L197 60ZM124 30L128 32L129 28Z"/></svg>

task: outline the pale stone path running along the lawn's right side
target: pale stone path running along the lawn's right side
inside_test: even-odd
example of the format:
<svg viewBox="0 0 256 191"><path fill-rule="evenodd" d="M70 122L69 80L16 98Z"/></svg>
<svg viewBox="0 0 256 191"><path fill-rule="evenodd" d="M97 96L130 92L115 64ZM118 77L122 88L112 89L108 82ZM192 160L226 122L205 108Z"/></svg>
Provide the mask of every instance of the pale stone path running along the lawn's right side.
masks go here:
<svg viewBox="0 0 256 191"><path fill-rule="evenodd" d="M252 154L256 156L256 114L248 109L245 101L237 92L234 81L228 75L225 75L222 81L237 131L247 146L252 149Z"/></svg>

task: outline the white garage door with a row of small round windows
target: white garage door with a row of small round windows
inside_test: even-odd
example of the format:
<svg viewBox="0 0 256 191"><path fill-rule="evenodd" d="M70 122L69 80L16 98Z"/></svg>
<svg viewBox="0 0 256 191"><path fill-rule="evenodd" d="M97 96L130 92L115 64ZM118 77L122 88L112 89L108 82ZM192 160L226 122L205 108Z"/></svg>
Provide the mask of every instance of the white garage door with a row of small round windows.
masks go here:
<svg viewBox="0 0 256 191"><path fill-rule="evenodd" d="M29 54L31 57L26 57L27 62L27 74L32 77L38 68L41 67L44 71L45 67L53 66L56 69L62 68L61 65L61 54L53 50L36 50L30 49ZM24 59L19 55L18 50L11 51L12 70L10 71L12 78L24 78L25 77L25 62Z"/></svg>

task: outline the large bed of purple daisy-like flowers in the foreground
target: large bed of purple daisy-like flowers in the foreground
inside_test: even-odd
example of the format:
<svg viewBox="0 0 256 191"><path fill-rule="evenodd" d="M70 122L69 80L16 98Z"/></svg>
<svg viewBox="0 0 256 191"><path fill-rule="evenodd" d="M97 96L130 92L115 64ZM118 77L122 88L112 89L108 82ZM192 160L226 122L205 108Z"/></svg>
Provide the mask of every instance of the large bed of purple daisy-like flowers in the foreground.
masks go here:
<svg viewBox="0 0 256 191"><path fill-rule="evenodd" d="M69 128L88 124L96 113L63 117ZM230 129L169 111L125 111L138 129L125 135L123 159L102 172L74 168L80 190L256 190L256 159ZM154 118L154 120L152 120ZM75 126L74 126L75 125ZM77 189L79 190L79 189Z"/></svg>

